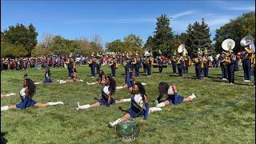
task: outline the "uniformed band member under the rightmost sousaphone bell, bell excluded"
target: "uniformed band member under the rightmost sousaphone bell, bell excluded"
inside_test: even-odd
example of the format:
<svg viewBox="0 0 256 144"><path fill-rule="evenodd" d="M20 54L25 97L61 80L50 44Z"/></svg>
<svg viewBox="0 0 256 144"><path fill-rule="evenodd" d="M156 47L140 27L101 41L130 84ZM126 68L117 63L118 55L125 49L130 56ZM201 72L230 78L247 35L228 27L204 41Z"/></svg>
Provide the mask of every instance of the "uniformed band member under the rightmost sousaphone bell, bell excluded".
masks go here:
<svg viewBox="0 0 256 144"><path fill-rule="evenodd" d="M244 70L244 82L250 82L250 68L252 62L253 51L249 46L242 51L242 69Z"/></svg>

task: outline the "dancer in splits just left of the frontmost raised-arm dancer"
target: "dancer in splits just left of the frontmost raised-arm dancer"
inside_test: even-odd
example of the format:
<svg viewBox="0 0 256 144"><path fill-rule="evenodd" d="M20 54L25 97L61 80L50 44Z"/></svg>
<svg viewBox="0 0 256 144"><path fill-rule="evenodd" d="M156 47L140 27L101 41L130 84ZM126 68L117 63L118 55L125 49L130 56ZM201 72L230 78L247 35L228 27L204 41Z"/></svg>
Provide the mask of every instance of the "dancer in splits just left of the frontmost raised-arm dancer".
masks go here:
<svg viewBox="0 0 256 144"><path fill-rule="evenodd" d="M115 85L114 78L106 77L105 86L102 89L102 98L98 100L98 102L92 105L87 104L87 105L80 106L78 102L78 106L76 109L77 110L89 109L89 108L94 108L102 105L110 106L111 104L114 104L114 103L130 102L130 98L122 99L120 101L116 101L114 100L114 98L112 98L112 96L114 96L114 93L115 93L115 86L116 85Z"/></svg>

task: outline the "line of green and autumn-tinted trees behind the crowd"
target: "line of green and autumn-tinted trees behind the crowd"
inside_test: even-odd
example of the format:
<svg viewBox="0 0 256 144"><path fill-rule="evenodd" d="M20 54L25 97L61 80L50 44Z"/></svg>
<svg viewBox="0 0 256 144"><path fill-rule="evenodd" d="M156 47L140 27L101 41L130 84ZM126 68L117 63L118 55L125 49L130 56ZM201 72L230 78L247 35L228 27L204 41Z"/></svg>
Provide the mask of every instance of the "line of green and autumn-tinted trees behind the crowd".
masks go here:
<svg viewBox="0 0 256 144"><path fill-rule="evenodd" d="M186 44L189 54L194 54L201 50L209 50L211 53L219 53L222 51L222 42L226 38L234 39L236 46L235 52L242 50L240 40L244 36L251 34L255 38L255 13L245 13L238 18L231 19L216 30L214 43L210 40L210 26L204 18L201 22L190 23L187 30L181 34L175 34L170 27L170 20L166 14L162 14L157 18L154 34L150 35L145 44L142 38L135 34L129 34L121 39L113 42L106 42L106 51L113 52L133 52L138 51L142 54L144 50L152 50L154 54L158 54L161 50L162 54L170 56L182 43ZM74 40L63 38L60 35L44 34L42 42L37 41L38 32L35 26L30 24L24 26L17 24L9 26L9 29L1 31L1 57L35 57L48 54L91 54L93 51L104 51L102 40L98 35L93 38L76 38ZM191 55L193 57L193 55Z"/></svg>

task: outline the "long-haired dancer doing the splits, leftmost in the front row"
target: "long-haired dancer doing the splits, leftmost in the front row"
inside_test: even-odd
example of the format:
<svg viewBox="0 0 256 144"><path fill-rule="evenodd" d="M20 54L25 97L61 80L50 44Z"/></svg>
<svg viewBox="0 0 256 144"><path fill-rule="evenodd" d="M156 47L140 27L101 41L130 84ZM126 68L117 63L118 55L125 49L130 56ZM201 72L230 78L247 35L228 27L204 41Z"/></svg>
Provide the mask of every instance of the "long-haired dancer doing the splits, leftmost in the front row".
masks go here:
<svg viewBox="0 0 256 144"><path fill-rule="evenodd" d="M36 86L34 85L34 82L30 78L26 78L23 81L23 88L20 91L20 97L22 99L22 102L18 103L17 105L13 106L2 106L2 110L9 110L9 109L26 109L27 107L31 106L37 106L37 107L46 107L46 106L53 106L62 104L63 102L47 102L47 103L39 103L35 102L32 97L34 96Z"/></svg>

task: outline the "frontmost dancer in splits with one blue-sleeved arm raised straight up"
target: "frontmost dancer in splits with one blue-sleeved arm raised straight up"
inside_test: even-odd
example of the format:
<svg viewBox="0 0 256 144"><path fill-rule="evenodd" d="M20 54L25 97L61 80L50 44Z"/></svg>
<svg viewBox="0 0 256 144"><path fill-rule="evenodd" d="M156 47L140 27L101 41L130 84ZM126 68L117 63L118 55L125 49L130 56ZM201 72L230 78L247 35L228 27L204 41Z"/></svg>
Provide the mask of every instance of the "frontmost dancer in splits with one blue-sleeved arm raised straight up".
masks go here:
<svg viewBox="0 0 256 144"><path fill-rule="evenodd" d="M122 116L122 118L118 118L114 122L109 122L110 127L117 125L119 122L122 122L122 120L126 118L137 118L137 117L144 116L143 120L146 120L150 112L162 110L161 108L158 108L158 107L150 108L150 104L146 98L146 90L144 86L142 86L142 83L135 82L132 85L129 78L130 78L130 73L127 73L127 82L128 82L127 84L131 94L130 109L126 110L126 113ZM146 106L146 110L142 109L143 104Z"/></svg>

